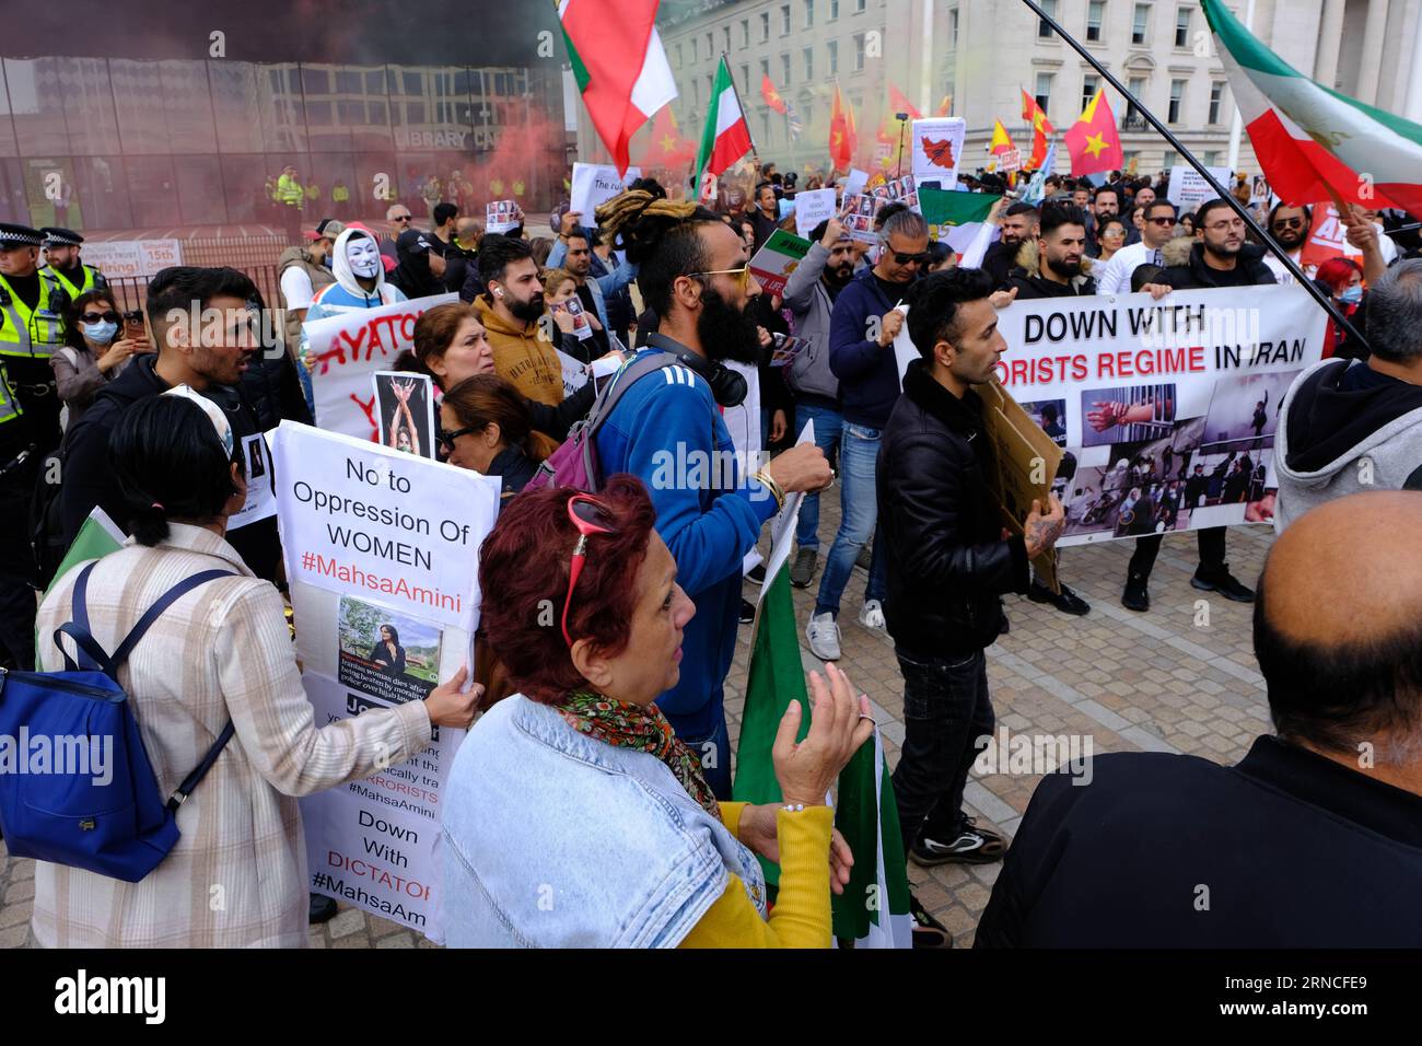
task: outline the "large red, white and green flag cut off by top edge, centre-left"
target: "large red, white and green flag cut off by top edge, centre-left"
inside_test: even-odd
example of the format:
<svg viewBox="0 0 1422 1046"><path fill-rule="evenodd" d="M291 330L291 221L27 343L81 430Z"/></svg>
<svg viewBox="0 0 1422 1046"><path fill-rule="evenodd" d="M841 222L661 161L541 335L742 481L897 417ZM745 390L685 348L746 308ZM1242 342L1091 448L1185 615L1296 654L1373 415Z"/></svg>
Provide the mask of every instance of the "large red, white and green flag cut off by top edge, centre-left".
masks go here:
<svg viewBox="0 0 1422 1046"><path fill-rule="evenodd" d="M557 19L597 137L627 174L631 137L677 97L657 36L660 0L562 0Z"/></svg>

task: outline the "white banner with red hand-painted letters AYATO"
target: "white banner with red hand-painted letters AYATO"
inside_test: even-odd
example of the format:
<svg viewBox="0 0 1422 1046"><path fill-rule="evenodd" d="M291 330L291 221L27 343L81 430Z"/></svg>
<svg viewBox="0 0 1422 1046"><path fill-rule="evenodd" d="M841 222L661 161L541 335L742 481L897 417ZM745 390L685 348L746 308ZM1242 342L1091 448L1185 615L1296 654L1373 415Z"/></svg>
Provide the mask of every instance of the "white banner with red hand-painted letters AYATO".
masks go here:
<svg viewBox="0 0 1422 1046"><path fill-rule="evenodd" d="M458 295L431 295L304 323L317 424L328 433L378 443L371 374L391 370L395 357L415 343L415 320L427 309L458 300Z"/></svg>

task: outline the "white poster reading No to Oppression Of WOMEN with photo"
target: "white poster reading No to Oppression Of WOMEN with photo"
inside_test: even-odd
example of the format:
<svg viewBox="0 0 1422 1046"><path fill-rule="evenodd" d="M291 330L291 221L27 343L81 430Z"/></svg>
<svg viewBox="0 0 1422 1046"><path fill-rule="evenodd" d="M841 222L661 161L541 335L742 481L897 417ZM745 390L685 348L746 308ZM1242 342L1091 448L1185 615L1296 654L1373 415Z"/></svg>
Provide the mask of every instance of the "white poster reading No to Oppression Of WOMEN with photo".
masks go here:
<svg viewBox="0 0 1422 1046"><path fill-rule="evenodd" d="M422 700L471 663L501 481L292 421L272 451L316 724ZM408 761L301 800L314 892L442 939L439 801L462 740L437 727Z"/></svg>

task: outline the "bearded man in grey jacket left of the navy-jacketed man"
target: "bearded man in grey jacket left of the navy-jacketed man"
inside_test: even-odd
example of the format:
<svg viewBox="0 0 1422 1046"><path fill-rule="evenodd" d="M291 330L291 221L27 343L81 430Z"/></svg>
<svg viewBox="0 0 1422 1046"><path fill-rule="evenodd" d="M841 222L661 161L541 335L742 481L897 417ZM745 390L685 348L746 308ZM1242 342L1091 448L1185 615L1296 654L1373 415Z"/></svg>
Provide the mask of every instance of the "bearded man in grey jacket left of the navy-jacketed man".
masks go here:
<svg viewBox="0 0 1422 1046"><path fill-rule="evenodd" d="M843 426L839 379L829 369L829 319L839 292L855 278L855 241L838 218L816 225L809 238L809 253L785 282L785 307L795 317L795 336L808 344L785 369L785 380L795 393L793 431L813 421L815 445L829 454ZM819 494L806 494L801 501L795 544L799 551L791 583L809 588L819 559Z"/></svg>

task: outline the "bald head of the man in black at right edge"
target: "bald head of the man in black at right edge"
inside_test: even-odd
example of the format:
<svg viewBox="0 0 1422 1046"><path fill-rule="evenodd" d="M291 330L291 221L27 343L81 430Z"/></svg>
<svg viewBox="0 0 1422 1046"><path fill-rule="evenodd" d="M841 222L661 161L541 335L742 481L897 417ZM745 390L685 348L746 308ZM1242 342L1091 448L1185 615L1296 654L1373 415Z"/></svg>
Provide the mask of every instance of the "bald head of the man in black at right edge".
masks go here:
<svg viewBox="0 0 1422 1046"><path fill-rule="evenodd" d="M1254 653L1280 736L1422 759L1422 492L1325 502L1274 542Z"/></svg>

